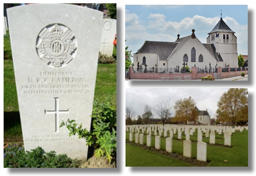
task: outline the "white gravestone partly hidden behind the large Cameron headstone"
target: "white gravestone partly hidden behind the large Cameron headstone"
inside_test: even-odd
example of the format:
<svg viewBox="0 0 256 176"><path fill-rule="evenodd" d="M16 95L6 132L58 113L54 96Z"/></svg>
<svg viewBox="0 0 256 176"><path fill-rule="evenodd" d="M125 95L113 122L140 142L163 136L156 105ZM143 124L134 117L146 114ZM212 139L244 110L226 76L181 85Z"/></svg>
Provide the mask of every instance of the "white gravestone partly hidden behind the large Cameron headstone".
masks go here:
<svg viewBox="0 0 256 176"><path fill-rule="evenodd" d="M100 53L108 56L113 54L113 41L116 35L116 19L104 18L100 41Z"/></svg>

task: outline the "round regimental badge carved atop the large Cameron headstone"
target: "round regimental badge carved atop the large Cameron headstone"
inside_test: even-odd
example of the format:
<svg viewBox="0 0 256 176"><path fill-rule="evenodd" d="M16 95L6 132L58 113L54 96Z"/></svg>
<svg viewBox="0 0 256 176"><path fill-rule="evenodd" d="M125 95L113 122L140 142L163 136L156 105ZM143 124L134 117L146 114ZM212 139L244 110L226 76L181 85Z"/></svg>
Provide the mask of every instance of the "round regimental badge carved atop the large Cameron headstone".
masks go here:
<svg viewBox="0 0 256 176"><path fill-rule="evenodd" d="M45 27L38 35L36 51L50 67L63 67L75 57L77 42L73 32L62 24Z"/></svg>

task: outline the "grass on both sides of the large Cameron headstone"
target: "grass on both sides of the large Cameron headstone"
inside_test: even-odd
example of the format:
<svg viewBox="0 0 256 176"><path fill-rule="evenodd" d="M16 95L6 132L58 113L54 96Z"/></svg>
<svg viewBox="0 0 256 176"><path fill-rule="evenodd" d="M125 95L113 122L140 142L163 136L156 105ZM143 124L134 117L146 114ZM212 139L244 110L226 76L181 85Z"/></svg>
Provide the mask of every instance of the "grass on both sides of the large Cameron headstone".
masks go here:
<svg viewBox="0 0 256 176"><path fill-rule="evenodd" d="M98 64L94 99L116 108L116 64ZM12 60L4 61L4 141L23 142Z"/></svg>

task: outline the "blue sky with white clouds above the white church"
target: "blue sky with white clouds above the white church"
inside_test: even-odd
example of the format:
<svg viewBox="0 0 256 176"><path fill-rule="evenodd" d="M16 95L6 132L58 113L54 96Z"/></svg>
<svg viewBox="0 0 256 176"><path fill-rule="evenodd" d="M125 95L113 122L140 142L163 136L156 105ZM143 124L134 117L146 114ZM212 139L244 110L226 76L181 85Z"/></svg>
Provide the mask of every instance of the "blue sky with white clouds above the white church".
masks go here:
<svg viewBox="0 0 256 176"><path fill-rule="evenodd" d="M208 33L221 18L236 32L238 54L248 54L247 5L125 5L125 46L136 53L145 40L174 42L195 34L206 43ZM133 59L132 59L133 60Z"/></svg>

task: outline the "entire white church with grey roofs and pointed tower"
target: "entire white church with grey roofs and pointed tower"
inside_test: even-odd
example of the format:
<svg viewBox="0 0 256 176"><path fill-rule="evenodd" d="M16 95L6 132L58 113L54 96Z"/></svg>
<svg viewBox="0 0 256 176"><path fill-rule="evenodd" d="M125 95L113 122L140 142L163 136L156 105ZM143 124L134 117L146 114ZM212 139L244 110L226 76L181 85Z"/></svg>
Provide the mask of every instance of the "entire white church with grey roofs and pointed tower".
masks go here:
<svg viewBox="0 0 256 176"><path fill-rule="evenodd" d="M221 18L214 29L208 33L207 43L201 43L196 37L195 30L190 36L178 38L175 42L145 41L134 54L135 65L152 68L182 67L185 62L189 68L204 68L217 66L238 67L237 37Z"/></svg>

